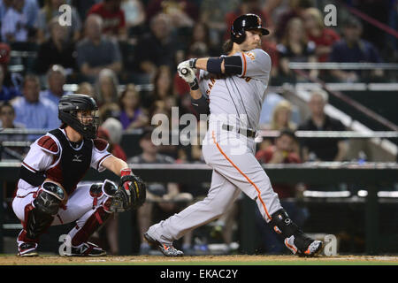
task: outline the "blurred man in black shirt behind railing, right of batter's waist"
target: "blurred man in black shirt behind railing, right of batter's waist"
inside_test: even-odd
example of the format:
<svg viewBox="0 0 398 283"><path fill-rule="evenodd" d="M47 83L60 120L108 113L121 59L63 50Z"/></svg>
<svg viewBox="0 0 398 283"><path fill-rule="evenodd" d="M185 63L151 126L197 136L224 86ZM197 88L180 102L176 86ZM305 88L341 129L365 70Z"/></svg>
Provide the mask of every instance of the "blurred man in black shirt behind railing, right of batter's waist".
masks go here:
<svg viewBox="0 0 398 283"><path fill-rule="evenodd" d="M324 90L313 90L308 103L310 119L298 127L300 131L345 131L340 120L325 114L328 95ZM348 145L343 139L310 138L302 139L302 157L304 161L343 161L348 152Z"/></svg>

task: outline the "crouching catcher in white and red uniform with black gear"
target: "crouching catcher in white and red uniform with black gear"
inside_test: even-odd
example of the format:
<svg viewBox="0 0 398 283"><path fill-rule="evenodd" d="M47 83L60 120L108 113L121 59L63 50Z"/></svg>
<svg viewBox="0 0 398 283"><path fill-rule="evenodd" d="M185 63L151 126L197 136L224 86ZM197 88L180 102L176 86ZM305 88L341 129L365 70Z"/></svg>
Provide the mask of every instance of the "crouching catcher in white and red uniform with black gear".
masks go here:
<svg viewBox="0 0 398 283"><path fill-rule="evenodd" d="M76 221L68 233L63 256L104 256L88 242L114 212L137 209L145 202L146 186L126 162L107 151L96 138L96 101L90 96L63 96L58 104L62 125L43 135L23 160L12 209L21 220L19 256L37 256L42 233L50 226ZM110 180L82 185L89 167L119 175L119 187ZM65 244L64 244L65 245Z"/></svg>

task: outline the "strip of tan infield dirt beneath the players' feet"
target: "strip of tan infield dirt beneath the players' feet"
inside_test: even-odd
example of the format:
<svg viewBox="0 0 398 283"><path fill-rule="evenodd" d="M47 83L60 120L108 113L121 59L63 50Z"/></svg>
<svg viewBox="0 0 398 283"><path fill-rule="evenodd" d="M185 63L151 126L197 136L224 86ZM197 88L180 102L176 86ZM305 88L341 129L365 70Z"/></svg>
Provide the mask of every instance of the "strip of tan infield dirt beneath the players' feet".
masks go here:
<svg viewBox="0 0 398 283"><path fill-rule="evenodd" d="M165 256L101 256L101 257L65 257L65 256L0 256L0 265L348 265L348 264L396 264L398 256L318 256L301 258L297 256L184 256L168 258Z"/></svg>

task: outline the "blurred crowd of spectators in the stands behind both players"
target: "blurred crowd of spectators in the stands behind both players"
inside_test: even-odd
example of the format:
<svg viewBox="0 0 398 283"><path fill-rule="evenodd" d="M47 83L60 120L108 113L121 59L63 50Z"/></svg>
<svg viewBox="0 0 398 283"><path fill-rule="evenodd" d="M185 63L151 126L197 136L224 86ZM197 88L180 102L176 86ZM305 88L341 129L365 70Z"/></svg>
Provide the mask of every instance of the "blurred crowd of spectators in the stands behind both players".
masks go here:
<svg viewBox="0 0 398 283"><path fill-rule="evenodd" d="M63 6L67 4L68 6ZM335 4L337 25L326 27L324 7ZM190 57L218 57L229 38L233 19L256 13L272 33L262 48L272 57L270 87L299 82L397 82L396 72L371 70L318 70L295 72L291 63L397 63L397 38L356 18L349 9L366 14L384 27L397 29L397 1L388 0L0 0L0 118L3 128L49 130L60 125L57 102L69 93L96 98L98 135L110 142L111 152L129 163L203 163L200 146L154 146L151 118L163 113L172 120L195 111L189 87L176 66ZM65 8L66 7L66 8ZM70 11L65 16L65 11ZM63 26L62 19L68 23ZM305 105L288 96L292 90L269 91L260 129L279 135L258 142L257 159L264 164L306 161L346 161L366 158L349 150L347 139L298 141L295 130L344 131L340 119L325 113L329 94L313 90ZM282 90L280 90L282 89ZM304 112L302 110L305 110ZM395 114L396 115L396 114ZM396 117L395 117L396 119ZM125 134L138 133L135 142ZM32 142L34 134L0 135L2 142ZM1 158L21 159L28 147L2 147ZM176 180L177 181L177 180ZM340 186L340 185L339 185ZM165 214L206 194L206 184L149 184L149 200L134 223L142 234ZM305 185L274 184L281 199L298 197ZM173 200L175 202L170 202ZM286 205L287 206L287 205ZM237 207L214 224L210 233L233 247ZM292 207L297 218L305 209ZM300 224L300 219L296 219ZM117 218L103 229L112 254L118 254ZM261 226L261 224L259 224ZM263 231L263 230L262 230ZM264 232L264 239L271 235ZM185 251L206 251L200 237L184 238ZM149 247L138 240L140 253ZM282 249L264 241L268 252ZM272 243L272 244L270 244Z"/></svg>

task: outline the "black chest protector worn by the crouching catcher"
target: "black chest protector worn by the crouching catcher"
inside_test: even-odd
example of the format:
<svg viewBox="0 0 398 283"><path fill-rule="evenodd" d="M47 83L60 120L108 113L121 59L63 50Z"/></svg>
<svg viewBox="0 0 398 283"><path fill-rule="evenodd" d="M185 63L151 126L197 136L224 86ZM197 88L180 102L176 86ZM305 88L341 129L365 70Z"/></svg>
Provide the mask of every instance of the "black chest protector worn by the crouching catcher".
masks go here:
<svg viewBox="0 0 398 283"><path fill-rule="evenodd" d="M57 165L48 169L45 175L60 183L70 195L90 167L93 142L84 139L80 149L73 149L61 130L55 129L49 133L57 138L62 150Z"/></svg>

